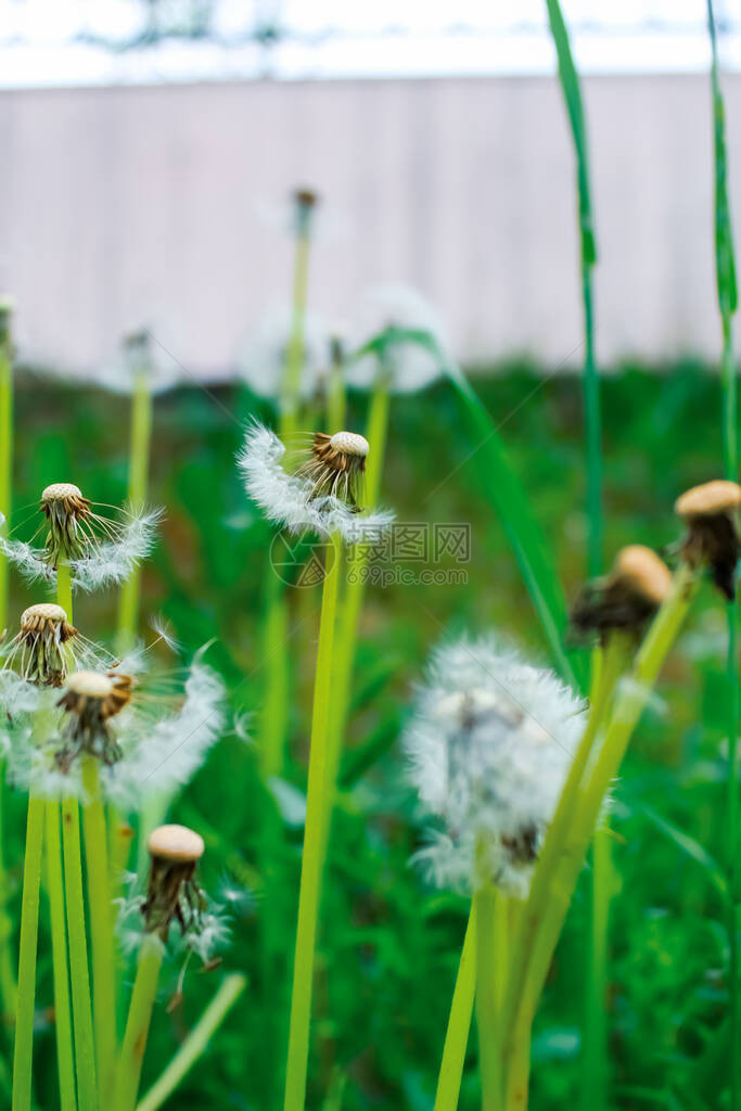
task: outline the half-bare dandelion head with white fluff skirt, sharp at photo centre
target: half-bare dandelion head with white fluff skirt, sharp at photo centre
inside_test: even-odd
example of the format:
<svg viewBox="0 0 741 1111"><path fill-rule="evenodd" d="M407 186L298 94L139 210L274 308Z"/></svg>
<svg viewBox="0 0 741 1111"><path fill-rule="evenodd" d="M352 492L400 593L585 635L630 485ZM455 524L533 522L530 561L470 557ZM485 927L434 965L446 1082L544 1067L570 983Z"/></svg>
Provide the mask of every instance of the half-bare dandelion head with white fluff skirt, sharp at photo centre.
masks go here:
<svg viewBox="0 0 741 1111"><path fill-rule="evenodd" d="M286 446L254 422L238 458L250 498L269 521L290 532L339 532L349 543L370 542L393 521L393 513L359 513L353 479L362 473L369 444L361 436L338 432L314 438L312 453L296 473L283 466Z"/></svg>

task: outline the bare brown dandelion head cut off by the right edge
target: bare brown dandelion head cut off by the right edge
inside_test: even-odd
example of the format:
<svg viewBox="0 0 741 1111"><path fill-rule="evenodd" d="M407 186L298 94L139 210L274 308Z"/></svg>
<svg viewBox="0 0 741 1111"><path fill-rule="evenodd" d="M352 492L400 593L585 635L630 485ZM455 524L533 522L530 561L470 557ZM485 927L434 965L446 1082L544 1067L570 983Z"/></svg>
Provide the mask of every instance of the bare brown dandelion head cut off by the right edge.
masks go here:
<svg viewBox="0 0 741 1111"><path fill-rule="evenodd" d="M739 534L734 518L740 504L741 487L725 479L692 487L674 503L674 511L687 527L682 559L692 568L708 565L713 582L729 601L735 594Z"/></svg>

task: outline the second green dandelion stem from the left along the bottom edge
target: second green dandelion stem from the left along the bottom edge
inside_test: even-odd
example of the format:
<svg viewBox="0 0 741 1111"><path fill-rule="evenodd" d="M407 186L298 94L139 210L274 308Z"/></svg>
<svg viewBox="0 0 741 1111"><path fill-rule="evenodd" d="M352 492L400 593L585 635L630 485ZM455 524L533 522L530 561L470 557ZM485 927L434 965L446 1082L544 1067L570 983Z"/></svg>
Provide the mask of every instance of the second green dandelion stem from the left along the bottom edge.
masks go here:
<svg viewBox="0 0 741 1111"><path fill-rule="evenodd" d="M70 1011L67 921L64 919L62 842L59 829L60 807L56 800L44 802L44 815L59 1095L61 1111L74 1111L77 1107L74 1094L74 1049L72 1045L72 1018Z"/></svg>

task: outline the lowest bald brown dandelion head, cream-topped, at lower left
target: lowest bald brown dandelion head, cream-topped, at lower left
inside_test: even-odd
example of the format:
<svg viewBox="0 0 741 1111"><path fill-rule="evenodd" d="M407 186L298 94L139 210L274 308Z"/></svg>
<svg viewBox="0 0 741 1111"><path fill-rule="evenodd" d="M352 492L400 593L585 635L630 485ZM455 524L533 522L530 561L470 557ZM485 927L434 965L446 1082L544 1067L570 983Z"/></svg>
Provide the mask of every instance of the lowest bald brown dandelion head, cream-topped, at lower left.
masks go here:
<svg viewBox="0 0 741 1111"><path fill-rule="evenodd" d="M160 825L150 834L147 848L151 869L142 914L147 931L167 941L173 920L186 933L198 924L206 907L196 878L203 838L187 825Z"/></svg>

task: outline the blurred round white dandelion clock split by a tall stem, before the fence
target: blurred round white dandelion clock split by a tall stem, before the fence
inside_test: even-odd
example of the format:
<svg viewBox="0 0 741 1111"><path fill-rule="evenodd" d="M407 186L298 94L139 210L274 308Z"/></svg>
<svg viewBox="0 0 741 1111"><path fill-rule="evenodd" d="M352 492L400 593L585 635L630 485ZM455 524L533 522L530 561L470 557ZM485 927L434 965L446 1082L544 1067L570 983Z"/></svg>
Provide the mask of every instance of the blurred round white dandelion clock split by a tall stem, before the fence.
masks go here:
<svg viewBox="0 0 741 1111"><path fill-rule="evenodd" d="M260 398L278 398L286 376L291 342L290 308L273 309L250 333L240 359L239 373ZM313 397L331 364L330 333L319 317L307 313L303 319L301 388L302 398Z"/></svg>

